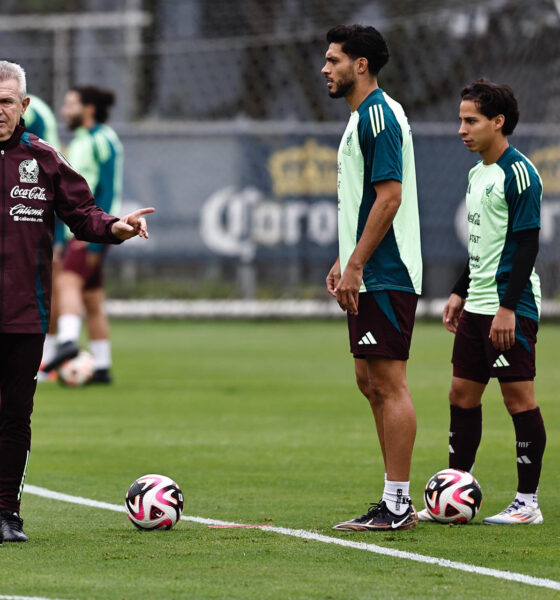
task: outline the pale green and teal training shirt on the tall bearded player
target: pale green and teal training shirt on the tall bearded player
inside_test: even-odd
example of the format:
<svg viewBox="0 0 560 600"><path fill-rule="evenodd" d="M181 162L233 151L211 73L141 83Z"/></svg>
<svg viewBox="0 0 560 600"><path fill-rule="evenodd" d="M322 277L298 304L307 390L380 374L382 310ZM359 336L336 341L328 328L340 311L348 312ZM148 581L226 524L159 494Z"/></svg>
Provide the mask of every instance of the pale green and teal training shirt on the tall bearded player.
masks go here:
<svg viewBox="0 0 560 600"><path fill-rule="evenodd" d="M340 267L363 233L377 194L374 185L402 183L402 202L364 266L360 292L422 291L420 223L412 133L402 106L377 88L350 114L338 149Z"/></svg>

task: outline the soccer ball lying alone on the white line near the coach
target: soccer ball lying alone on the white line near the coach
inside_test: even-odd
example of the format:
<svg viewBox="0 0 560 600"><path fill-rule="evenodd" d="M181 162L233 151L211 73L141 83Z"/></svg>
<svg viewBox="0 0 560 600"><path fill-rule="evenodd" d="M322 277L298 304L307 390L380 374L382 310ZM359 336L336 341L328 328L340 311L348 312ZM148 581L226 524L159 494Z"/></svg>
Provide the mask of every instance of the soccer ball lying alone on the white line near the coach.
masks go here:
<svg viewBox="0 0 560 600"><path fill-rule="evenodd" d="M125 507L138 529L171 529L183 512L183 492L165 475L144 475L128 488Z"/></svg>

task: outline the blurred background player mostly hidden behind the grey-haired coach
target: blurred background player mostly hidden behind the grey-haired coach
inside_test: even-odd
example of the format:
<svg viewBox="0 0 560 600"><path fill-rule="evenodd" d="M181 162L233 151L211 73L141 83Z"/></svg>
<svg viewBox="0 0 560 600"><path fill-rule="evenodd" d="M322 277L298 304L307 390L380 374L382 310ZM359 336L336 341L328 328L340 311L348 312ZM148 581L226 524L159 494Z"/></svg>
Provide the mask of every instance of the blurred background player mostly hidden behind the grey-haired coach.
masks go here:
<svg viewBox="0 0 560 600"><path fill-rule="evenodd" d="M35 134L48 144L50 144L56 150L60 150L60 139L58 137L58 127L56 123L56 117L49 105L34 96L33 94L28 95L29 106L25 111L25 129L29 133ZM60 273L62 266L62 254L64 251L65 243L65 228L64 223L58 218L55 218L54 228L54 241L53 241L53 263L52 263L52 278L53 286L56 285L56 279ZM58 320L58 303L56 301L56 295L53 295L51 299L51 318L49 322L49 331L45 337L45 344L43 346L43 358L41 363L44 365L50 362L56 354L56 326ZM47 374L43 371L39 371L38 379L43 380L47 378Z"/></svg>

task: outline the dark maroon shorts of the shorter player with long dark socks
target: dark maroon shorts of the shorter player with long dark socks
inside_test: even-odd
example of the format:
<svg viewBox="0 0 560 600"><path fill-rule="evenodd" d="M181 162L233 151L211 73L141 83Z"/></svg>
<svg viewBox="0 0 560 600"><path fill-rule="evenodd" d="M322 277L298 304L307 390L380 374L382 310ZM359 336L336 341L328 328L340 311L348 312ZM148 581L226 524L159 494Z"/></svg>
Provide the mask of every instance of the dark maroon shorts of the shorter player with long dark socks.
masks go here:
<svg viewBox="0 0 560 600"><path fill-rule="evenodd" d="M453 344L453 376L478 383L532 381L535 378L535 344L539 324L528 317L515 317L515 344L509 350L496 350L488 337L492 315L464 310L459 318Z"/></svg>

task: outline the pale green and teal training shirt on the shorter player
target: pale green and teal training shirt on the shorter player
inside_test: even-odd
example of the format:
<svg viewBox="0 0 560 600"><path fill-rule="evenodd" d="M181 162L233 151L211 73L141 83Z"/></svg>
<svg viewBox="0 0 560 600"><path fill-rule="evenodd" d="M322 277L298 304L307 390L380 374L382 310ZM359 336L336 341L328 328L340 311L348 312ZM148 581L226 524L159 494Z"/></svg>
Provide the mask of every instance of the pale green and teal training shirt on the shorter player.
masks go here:
<svg viewBox="0 0 560 600"><path fill-rule="evenodd" d="M466 202L470 285L465 310L495 315L517 250L513 234L541 226L541 178L513 146L497 162L478 162L469 172ZM533 269L515 313L539 320L541 287Z"/></svg>

